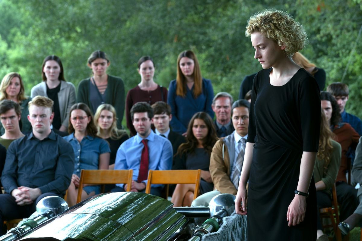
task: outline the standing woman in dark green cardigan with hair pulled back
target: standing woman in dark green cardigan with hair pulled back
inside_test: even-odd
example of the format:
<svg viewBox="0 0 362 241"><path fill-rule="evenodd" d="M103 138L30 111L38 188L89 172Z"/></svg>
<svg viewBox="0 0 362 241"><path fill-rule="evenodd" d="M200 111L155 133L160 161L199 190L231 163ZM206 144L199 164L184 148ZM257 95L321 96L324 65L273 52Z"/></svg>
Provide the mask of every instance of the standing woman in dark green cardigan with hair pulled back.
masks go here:
<svg viewBox="0 0 362 241"><path fill-rule="evenodd" d="M122 79L107 74L110 61L103 51L94 51L87 65L92 69L92 77L79 83L78 102L87 104L93 114L101 104L111 104L117 111L117 128L122 129L125 111L125 86Z"/></svg>

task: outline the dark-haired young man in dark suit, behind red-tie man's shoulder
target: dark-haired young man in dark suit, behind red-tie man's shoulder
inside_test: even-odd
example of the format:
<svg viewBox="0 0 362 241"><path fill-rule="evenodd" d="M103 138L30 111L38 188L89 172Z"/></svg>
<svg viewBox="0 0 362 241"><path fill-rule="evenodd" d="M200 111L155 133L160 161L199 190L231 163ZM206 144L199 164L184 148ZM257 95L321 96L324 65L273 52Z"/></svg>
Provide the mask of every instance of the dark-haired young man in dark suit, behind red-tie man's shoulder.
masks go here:
<svg viewBox="0 0 362 241"><path fill-rule="evenodd" d="M163 101L157 101L152 105L152 109L155 133L169 139L172 144L173 155L175 155L178 147L186 142L186 139L170 129L170 121L172 119L171 107Z"/></svg>

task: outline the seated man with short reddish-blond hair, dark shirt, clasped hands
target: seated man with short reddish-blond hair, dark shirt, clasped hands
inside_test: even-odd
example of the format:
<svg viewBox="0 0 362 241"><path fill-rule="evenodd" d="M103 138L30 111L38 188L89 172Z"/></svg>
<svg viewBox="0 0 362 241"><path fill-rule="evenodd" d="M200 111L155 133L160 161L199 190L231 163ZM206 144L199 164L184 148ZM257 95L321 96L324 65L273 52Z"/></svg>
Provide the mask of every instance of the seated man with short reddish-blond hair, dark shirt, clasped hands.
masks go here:
<svg viewBox="0 0 362 241"><path fill-rule="evenodd" d="M50 129L53 101L35 96L29 102L28 120L33 132L13 141L7 152L1 182L0 223L26 218L40 199L63 197L74 168L72 146ZM3 234L4 230L0 231Z"/></svg>

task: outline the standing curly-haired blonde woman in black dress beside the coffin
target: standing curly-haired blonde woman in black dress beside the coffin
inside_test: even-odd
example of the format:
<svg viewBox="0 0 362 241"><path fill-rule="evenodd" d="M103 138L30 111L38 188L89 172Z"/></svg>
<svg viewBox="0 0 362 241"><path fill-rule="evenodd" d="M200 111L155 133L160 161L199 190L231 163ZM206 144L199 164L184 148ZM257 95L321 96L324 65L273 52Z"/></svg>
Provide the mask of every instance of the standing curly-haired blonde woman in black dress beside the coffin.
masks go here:
<svg viewBox="0 0 362 241"><path fill-rule="evenodd" d="M236 213L248 214L248 241L315 240L319 88L291 58L307 34L280 10L255 14L246 29L263 70L253 82Z"/></svg>

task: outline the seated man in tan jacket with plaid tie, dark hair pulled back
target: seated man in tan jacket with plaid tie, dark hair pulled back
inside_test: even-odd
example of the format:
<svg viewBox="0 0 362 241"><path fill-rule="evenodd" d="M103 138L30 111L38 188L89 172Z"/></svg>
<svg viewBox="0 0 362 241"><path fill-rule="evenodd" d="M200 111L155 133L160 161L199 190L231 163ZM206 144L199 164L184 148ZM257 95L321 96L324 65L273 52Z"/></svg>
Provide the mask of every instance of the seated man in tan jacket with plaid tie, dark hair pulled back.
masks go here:
<svg viewBox="0 0 362 241"><path fill-rule="evenodd" d="M233 103L231 120L235 131L218 140L211 152L210 174L215 189L196 198L192 206L209 206L211 199L220 193L236 195L248 136L249 109L247 100Z"/></svg>

